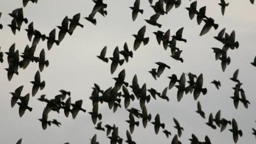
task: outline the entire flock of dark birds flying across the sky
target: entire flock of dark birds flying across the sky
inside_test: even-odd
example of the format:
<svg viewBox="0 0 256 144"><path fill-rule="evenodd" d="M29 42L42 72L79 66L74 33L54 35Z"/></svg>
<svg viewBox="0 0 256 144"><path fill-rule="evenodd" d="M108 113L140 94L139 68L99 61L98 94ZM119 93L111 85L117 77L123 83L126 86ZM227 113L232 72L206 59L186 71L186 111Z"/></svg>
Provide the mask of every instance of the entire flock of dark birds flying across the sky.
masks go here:
<svg viewBox="0 0 256 144"><path fill-rule="evenodd" d="M23 0L24 7L28 4L28 2L31 3L38 3L37 0ZM106 11L107 4L103 3L102 0L93 0L95 3L95 6L93 7L92 12L88 17L84 17L84 19L88 20L89 22L92 22L92 24L97 24L97 20L95 19L95 15L97 13L100 13L104 17L108 14ZM250 0L250 2L253 4L254 0ZM157 26L158 28L161 28L161 24L157 22L157 19L161 15L166 15L170 10L172 10L173 6L175 8L179 8L181 1L180 0L157 0L156 3L153 5L153 1L149 0L149 3L151 4L151 7L153 8L154 12L156 12L154 15L150 17L150 19L146 19L145 21L152 25ZM221 13L224 15L225 8L228 6L229 3L226 3L224 0L221 0L221 3L219 3L221 6ZM165 9L164 9L165 5ZM200 8L197 10L197 1L194 1L191 3L191 5L186 8L189 12L189 18L192 20L196 16L196 20L198 25L200 25L202 22L204 22L204 26L202 28L202 31L200 32L200 36L205 35L210 29L213 27L214 29L218 29L218 24L214 22L214 19L211 17L207 17L205 15L206 6ZM130 7L132 10L132 20L136 20L138 13L143 14L143 10L140 8L140 0L135 0L134 6ZM23 9L17 8L12 11L12 13L9 13L10 17L13 18L11 24L8 24L8 26L12 29L12 33L15 35L17 31L21 30L22 24L28 24L29 20L24 17ZM1 17L1 13L0 13ZM8 52L4 52L7 55L7 61L8 61L8 68L5 68L8 75L8 80L11 81L13 78L13 75L19 75L19 68L25 69L28 67L29 63L38 63L39 70L35 74L35 78L30 83L33 84L31 95L34 97L38 90L43 90L45 87L45 81L42 81L40 79L40 72L44 70L44 67L49 66L49 61L45 58L45 50L42 49L40 52L40 55L34 56L34 53L36 51L36 45L42 40L47 40L47 49L51 50L52 45L60 45L60 42L65 38L65 35L72 35L74 30L77 28L77 26L83 28L83 24L79 22L81 17L80 13L77 13L72 17L72 19L68 18L67 16L63 19L61 22L61 26L57 26L59 29L58 31L58 39L56 38L56 29L52 29L52 31L49 33L49 35L42 34L40 31L34 28L33 22L30 22L28 25L28 29L25 29L28 34L28 39L31 43L31 46L26 45L24 52L19 54L19 49L16 49L15 44L11 45ZM3 25L0 24L0 29L3 29ZM184 62L184 60L180 57L180 54L182 50L180 50L178 47L176 47L177 41L180 42L187 42L186 38L182 36L184 28L180 28L177 30L175 35L170 34L170 29L168 31L156 31L154 32L154 35L156 35L156 40L159 45L161 45L161 42L163 43L163 47L165 50L170 48L171 50L171 57L174 60ZM147 45L149 38L145 36L146 26L143 26L137 34L134 34L135 40L133 45L133 50L136 51L140 47L141 43L143 45ZM172 39L170 39L172 37ZM223 44L223 48L220 49L218 47L212 47L213 52L215 54L216 60L221 61L221 68L223 72L225 71L225 68L230 63L230 57L227 56L228 49L234 50L239 47L239 42L236 41L236 33L235 31L232 31L232 33L228 34L225 33L225 28L220 31L218 36L214 36L218 42L221 42ZM116 47L113 52L113 57L106 57L107 52L107 46L102 49L99 56L97 56L100 60L108 63L109 60L111 60L111 74L113 74L118 67L118 65L122 66L124 62L128 63L129 58L132 58L133 52L129 50L129 47L127 43L124 44L124 49L122 51L119 51L119 48ZM124 59L120 57L120 54ZM3 52L0 51L0 62L3 63ZM20 60L22 58L22 60ZM150 71L148 71L154 79L157 80L163 74L164 70L166 68L170 69L170 66L166 63L163 63L161 61L156 62L157 68L152 68ZM252 62L252 65L256 67L256 57L255 60ZM236 72L234 72L234 75L230 78L234 83L236 83L234 89L234 96L231 97L231 99L234 102L234 107L237 109L239 102L241 102L244 105L244 108L248 108L248 105L250 102L246 99L245 93L243 88L241 88L242 84L238 79L238 73L239 70L237 69ZM168 90L172 88L177 88L177 101L179 102L184 93L193 93L193 97L195 100L200 97L200 95L205 95L207 93L207 88L204 88L204 78L203 74L200 74L199 76L196 76L192 73L182 73L180 77L176 74L172 74L172 76L168 77L170 79L170 83L166 88L164 88L163 92L157 92L154 88L147 88L147 84L144 83L142 86L138 83L138 78L135 75L132 79L132 84L129 84L125 82L125 70L122 70L118 77L114 77L115 80L115 86L109 87L107 90L101 90L100 86L98 84L94 84L93 86L93 92L92 96L90 97L90 100L92 100L92 111L88 112L92 116L92 122L94 125L96 125L95 129L99 131L106 131L106 135L108 136L110 143L115 144L119 143L121 144L123 141L123 138L121 138L118 135L118 127L114 125L106 124L102 126L102 114L99 113L99 104L107 103L109 106L109 109L113 109L113 112L118 108L121 108L121 101L124 100L124 107L129 112L129 119L125 120L129 124L129 130L126 131L127 140L125 140L126 143L129 144L135 144L136 142L132 140L131 134L134 131L134 127L138 127L140 122L138 120L141 120L143 127L147 127L148 122L150 124L154 125L154 131L156 134L159 133L160 129L163 130L162 132L166 135L167 138L170 138L172 136L172 132L168 131L168 129L165 129L165 124L161 122L160 115L157 114L154 116L154 122L152 122L152 115L147 112L147 103L150 102L150 99L153 98L154 100L157 99L164 99L166 101L169 101L169 97L166 95ZM188 80L187 80L188 79ZM221 83L220 81L213 80L211 82L216 86L217 89L220 88ZM19 86L15 90L15 92L10 92L12 95L11 99L11 106L12 108L15 106L15 104L19 105L19 116L21 117L24 115L24 113L28 111L32 111L33 108L29 107L29 97L30 94L27 93L26 95L22 96L22 89L23 85ZM122 90L121 90L122 89ZM129 92L129 89L131 89L131 92ZM150 94L147 94L149 92ZM201 94L202 93L202 94ZM51 126L51 124L54 124L58 127L60 127L61 123L58 122L56 119L49 120L48 114L51 111L55 111L56 113L60 113L63 109L65 116L69 116L71 113L72 118L76 118L79 111L83 111L86 113L86 109L82 108L83 100L77 100L76 102L71 101L71 93L66 90L60 90L60 94L56 95L54 99L47 99L46 95L41 95L38 100L41 102L45 102L45 108L42 113L42 118L38 119L42 123L42 128L47 129L48 126ZM131 101L138 100L140 102L140 109L136 108L129 108L129 104ZM198 113L202 118L206 118L205 112L202 109L202 106L200 102L197 103L197 110L196 113ZM134 117L135 116L135 117ZM137 119L137 120L136 120ZM99 122L100 121L100 122ZM179 138L182 136L182 131L184 131L184 128L179 124L179 121L173 117L174 127L177 129L177 134L174 134L172 138L172 144L180 144ZM220 128L220 132L225 131L226 127L230 127L228 129L230 132L232 132L234 143L237 143L238 138L243 136L243 132L241 129L239 129L236 120L233 118L232 120L227 120L227 118L224 118L221 116L221 110L218 111L215 114L215 117L212 113L209 114L208 122L205 123L212 129L217 129L217 127ZM111 134L111 136L109 136ZM253 129L253 135L256 136L256 130ZM191 135L192 138L189 139L192 144L211 144L211 140L208 136L205 136L204 141L198 140L198 138L195 136L195 134ZM22 139L17 141L17 144L20 144L22 142ZM95 134L91 140L92 144L99 143L97 141L97 134ZM68 143L65 143L68 144Z"/></svg>

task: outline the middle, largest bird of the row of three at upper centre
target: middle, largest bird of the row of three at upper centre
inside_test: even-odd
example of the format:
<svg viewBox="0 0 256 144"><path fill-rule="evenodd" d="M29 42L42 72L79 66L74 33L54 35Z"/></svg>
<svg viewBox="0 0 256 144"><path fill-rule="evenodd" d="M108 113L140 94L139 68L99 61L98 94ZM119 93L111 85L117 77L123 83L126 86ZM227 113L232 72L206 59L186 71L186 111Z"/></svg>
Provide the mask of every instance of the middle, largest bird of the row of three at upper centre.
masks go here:
<svg viewBox="0 0 256 144"><path fill-rule="evenodd" d="M124 59L120 60L120 55L119 55L118 47L115 48L115 50L113 52L113 57L109 58L109 59L112 61L110 72L111 72L111 74L113 74L115 72L118 64L121 66L124 63Z"/></svg>

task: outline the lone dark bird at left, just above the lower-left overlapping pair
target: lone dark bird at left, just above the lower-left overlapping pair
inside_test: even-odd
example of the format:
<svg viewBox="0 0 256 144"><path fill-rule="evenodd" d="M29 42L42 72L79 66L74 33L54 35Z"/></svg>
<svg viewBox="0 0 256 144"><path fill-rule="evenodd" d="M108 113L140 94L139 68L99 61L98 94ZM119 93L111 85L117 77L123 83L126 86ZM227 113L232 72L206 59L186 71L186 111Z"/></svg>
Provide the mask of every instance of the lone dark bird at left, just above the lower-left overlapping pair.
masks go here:
<svg viewBox="0 0 256 144"><path fill-rule="evenodd" d="M41 82L41 78L40 78L40 72L37 71L35 74L35 81L31 81L30 83L33 84L33 88L32 88L32 96L35 96L37 91L39 90L43 90L45 87L45 82L42 81Z"/></svg>

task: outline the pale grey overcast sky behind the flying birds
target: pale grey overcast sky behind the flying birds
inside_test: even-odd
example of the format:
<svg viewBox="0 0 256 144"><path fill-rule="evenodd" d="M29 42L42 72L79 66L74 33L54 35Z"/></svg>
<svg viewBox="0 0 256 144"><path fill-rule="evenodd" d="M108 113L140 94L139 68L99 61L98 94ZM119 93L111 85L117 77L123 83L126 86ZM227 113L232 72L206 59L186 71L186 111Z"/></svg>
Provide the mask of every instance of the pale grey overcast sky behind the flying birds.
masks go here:
<svg viewBox="0 0 256 144"><path fill-rule="evenodd" d="M219 1L198 1L198 8L207 6L206 15L212 17L219 28L215 31L211 29L204 36L199 36L203 27L203 23L198 26L196 19L190 20L188 10L191 1L182 1L179 8L173 8L168 15L163 15L157 22L163 24L161 29L151 26L144 19L149 19L154 14L154 10L150 8L148 1L141 1L141 8L144 10L143 15L139 14L137 19L132 21L132 6L134 1L104 1L108 4L108 15L102 17L97 14L97 26L88 22L83 17L87 17L93 8L92 1L67 1L67 0L45 0L38 1L37 4L28 3L23 8L24 17L29 22L34 22L34 28L42 33L48 34L56 26L60 26L61 21L67 15L73 17L76 13L81 13L81 24L84 28L77 27L72 36L66 35L59 46L54 45L51 51L47 51L47 42L40 42L36 48L35 55L38 56L41 49L45 49L49 67L45 68L41 75L41 79L45 81L45 88L38 91L35 97L30 97L29 106L33 111L26 113L20 118L19 107L10 106L11 95L16 88L24 85L22 95L31 93L32 84L38 64L31 63L25 70L19 70L19 76L13 76L12 81L8 81L7 72L4 68L8 67L8 63L0 63L0 143L11 144L16 143L22 138L22 143L26 144L43 144L43 143L65 143L79 144L90 143L90 139L97 134L99 143L109 143L106 138L106 132L97 131L92 123L92 118L88 111L92 111L92 102L89 97L92 93L93 83L99 84L100 88L106 90L110 86L114 86L113 77L117 77L118 73L125 69L125 81L132 82L134 74L138 76L140 86L147 83L147 88L155 88L158 92L162 92L168 86L168 76L176 74L178 77L184 73L192 72L199 76L204 75L204 87L208 92L206 95L200 95L202 109L208 118L209 113L215 113L221 109L221 116L232 120L236 118L239 129L243 131L243 137L239 138L238 144L255 143L255 137L252 135L252 127L256 127L255 113L255 94L254 88L256 81L256 68L250 62L256 56L255 37L256 37L256 13L255 4L250 1L227 1L230 2L225 11L225 16L221 15ZM154 3L156 0L154 1ZM12 21L8 15L15 8L22 7L22 1L19 0L2 0L0 11L2 17L0 24L4 28L0 30L0 47L1 51L8 51L9 47L15 43L16 48L20 52L24 51L26 45L31 45L26 31L28 24L22 24L20 31L13 35L11 29L7 26ZM147 30L145 36L149 36L147 45L141 45L137 51L134 51L133 58L129 63L124 63L122 67L118 67L113 75L110 73L110 63L104 63L96 56L104 46L108 47L107 57L113 56L116 46L123 49L123 45L127 42L129 49L133 49L134 37L138 30L146 25ZM170 29L171 35L184 27L183 36L188 40L187 43L178 42L177 47L182 49L182 58L184 63L175 61L170 57L170 51L164 51L163 45L158 45L154 31L167 31ZM232 30L236 31L236 40L239 41L239 49L228 51L231 58L230 65L227 66L225 72L221 70L220 61L215 61L214 53L211 47L222 47L222 44L216 41L213 36L226 28L227 33ZM6 60L6 55L4 55ZM170 70L164 70L159 79L154 80L148 73L151 68L157 68L155 62L161 61L170 65ZM232 87L236 83L230 81L235 70L239 68L239 80L243 83L242 88L246 93L246 98L251 104L245 109L242 104L235 109L232 99L234 91ZM213 79L221 81L221 88L217 90L211 81ZM61 111L60 115L52 112L49 119L57 119L61 122L61 127L52 125L43 130L38 118L42 117L42 111L45 103L37 100L40 95L45 94L47 99L54 98L59 94L59 90L64 89L71 92L72 102L82 99L83 108L86 113L79 112L76 119L71 116L66 118ZM209 136L212 143L234 143L232 133L228 128L220 132L220 129L213 130L207 126L207 118L201 118L196 111L196 101L193 95L184 95L180 102L177 102L177 89L172 88L167 93L170 101L151 100L147 104L148 113L152 114L153 121L157 113L159 113L161 122L166 124L166 129L172 132L171 138L166 138L163 132L155 134L154 125L148 124L144 129L140 120L140 126L135 127L132 134L132 140L136 143L170 143L173 136L177 133L174 129L172 118L179 120L180 125L184 127L182 137L179 139L182 143L189 143L191 134L195 134L199 140L204 141L205 135ZM123 102L123 101L122 101ZM132 102L129 108L140 108L140 104L136 101ZM107 104L99 105L99 112L102 113L102 124L109 124L119 127L120 136L126 139L125 132L129 129L129 124L125 120L129 119L129 113L125 110L124 104L116 113L108 109ZM124 142L124 141L123 141ZM124 142L125 143L125 142Z"/></svg>

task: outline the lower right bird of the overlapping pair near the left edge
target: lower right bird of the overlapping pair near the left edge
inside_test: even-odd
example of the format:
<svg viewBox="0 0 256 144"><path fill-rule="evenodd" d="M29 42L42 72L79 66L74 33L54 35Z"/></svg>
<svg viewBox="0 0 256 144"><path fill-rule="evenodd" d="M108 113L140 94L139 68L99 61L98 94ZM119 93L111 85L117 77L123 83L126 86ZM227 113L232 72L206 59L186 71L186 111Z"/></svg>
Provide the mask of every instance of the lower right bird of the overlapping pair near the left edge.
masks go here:
<svg viewBox="0 0 256 144"><path fill-rule="evenodd" d="M29 111L32 111L32 108L28 106L28 101L29 101L29 93L25 95L24 97L20 97L20 102L17 102L19 104L19 115L20 117L24 115L26 109Z"/></svg>

